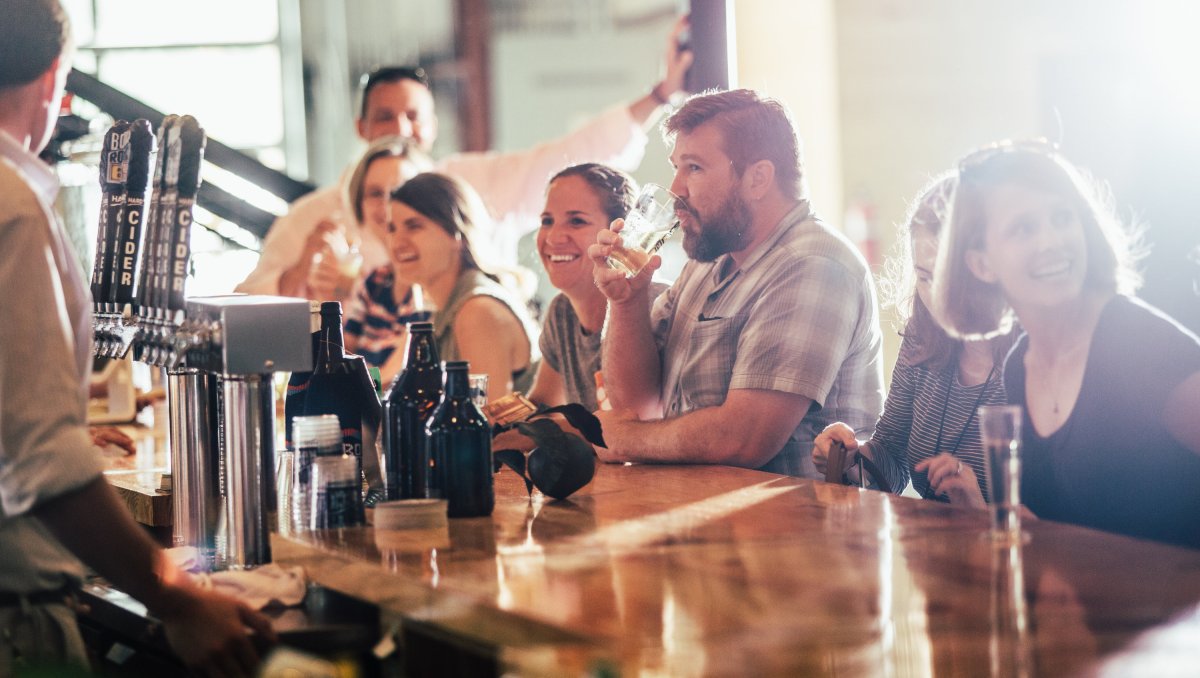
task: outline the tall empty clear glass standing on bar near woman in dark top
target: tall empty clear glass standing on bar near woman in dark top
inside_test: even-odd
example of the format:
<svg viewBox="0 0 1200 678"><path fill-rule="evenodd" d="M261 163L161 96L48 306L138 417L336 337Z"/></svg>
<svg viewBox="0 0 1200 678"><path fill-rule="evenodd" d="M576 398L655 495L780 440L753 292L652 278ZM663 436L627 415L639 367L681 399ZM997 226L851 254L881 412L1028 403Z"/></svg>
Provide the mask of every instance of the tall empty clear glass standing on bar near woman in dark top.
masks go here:
<svg viewBox="0 0 1200 678"><path fill-rule="evenodd" d="M991 493L991 539L1021 540L1021 408L1015 404L979 408L979 437L988 458Z"/></svg>

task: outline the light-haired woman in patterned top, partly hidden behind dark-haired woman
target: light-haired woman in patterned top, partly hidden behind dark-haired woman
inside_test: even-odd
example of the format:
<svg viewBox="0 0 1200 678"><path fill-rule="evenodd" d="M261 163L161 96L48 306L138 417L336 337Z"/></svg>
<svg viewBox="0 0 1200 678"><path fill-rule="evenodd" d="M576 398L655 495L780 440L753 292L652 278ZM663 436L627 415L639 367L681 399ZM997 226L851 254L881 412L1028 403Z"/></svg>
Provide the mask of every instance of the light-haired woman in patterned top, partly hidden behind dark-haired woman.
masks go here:
<svg viewBox="0 0 1200 678"><path fill-rule="evenodd" d="M384 137L371 144L346 186L346 203L353 206L359 230L388 242L391 192L428 168L428 157L406 139ZM416 294L409 281L396 277L395 269L385 264L368 271L346 302L346 350L379 367L384 383L402 366L403 350L396 349L403 348L406 323L427 319L418 308Z"/></svg>

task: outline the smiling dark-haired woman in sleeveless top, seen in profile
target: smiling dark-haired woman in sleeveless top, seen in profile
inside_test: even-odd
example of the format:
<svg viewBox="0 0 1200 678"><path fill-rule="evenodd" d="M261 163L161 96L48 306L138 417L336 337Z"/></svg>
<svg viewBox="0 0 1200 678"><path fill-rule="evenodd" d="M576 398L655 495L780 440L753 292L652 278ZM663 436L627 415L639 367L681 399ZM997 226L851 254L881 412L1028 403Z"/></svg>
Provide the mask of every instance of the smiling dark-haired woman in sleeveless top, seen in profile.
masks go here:
<svg viewBox="0 0 1200 678"><path fill-rule="evenodd" d="M391 268L433 306L440 359L467 360L473 373L487 374L488 400L528 390L536 328L521 295L481 265L474 242L488 217L479 194L427 172L392 191L390 208Z"/></svg>

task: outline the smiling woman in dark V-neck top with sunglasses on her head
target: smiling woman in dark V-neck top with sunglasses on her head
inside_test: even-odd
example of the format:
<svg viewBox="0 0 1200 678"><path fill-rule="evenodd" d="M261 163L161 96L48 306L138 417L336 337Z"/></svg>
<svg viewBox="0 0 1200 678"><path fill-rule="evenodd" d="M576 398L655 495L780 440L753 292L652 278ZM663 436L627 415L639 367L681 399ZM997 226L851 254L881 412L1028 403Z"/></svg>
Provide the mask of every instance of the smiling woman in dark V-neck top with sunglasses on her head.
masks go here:
<svg viewBox="0 0 1200 678"><path fill-rule="evenodd" d="M935 312L956 336L1015 314L1021 500L1042 518L1200 547L1200 340L1146 302L1110 200L1043 143L962 160Z"/></svg>

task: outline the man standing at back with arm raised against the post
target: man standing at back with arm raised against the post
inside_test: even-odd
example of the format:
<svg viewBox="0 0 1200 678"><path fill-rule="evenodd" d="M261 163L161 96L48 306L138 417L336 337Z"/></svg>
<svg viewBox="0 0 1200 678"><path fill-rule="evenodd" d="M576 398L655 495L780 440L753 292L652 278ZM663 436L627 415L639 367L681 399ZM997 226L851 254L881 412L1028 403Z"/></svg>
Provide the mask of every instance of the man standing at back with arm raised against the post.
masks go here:
<svg viewBox="0 0 1200 678"><path fill-rule="evenodd" d="M516 264L517 241L535 230L546 181L559 169L580 162L602 162L632 170L646 152L646 130L676 94L683 91L691 52L678 37L686 22L677 22L667 43L665 74L649 92L631 103L610 108L580 128L557 139L512 152L462 152L442 158L434 169L470 184L484 198L494 223L485 234L496 263ZM359 138L371 143L384 136L412 139L428 152L437 138L438 118L433 92L422 68L388 66L364 78ZM362 270L388 263L383 242L372 233L359 233L347 218L341 184L318 188L296 200L271 226L263 241L258 266L238 286L251 294L284 294L332 300L337 281L335 240L360 240ZM338 221L341 223L338 223ZM343 229L353 233L341 233ZM324 253L313 266L314 254Z"/></svg>

